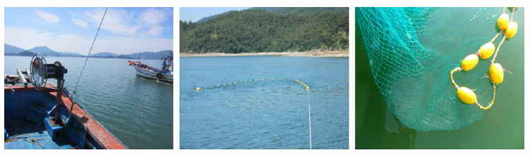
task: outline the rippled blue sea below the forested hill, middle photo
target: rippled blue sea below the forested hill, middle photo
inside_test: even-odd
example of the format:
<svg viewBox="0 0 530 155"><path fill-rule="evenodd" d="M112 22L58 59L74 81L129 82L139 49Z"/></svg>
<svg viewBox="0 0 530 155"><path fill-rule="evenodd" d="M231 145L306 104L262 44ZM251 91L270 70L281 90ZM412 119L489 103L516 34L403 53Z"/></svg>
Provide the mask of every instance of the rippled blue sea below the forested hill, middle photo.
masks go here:
<svg viewBox="0 0 530 155"><path fill-rule="evenodd" d="M348 149L348 85L348 58L180 58L180 149L309 149L308 104L312 149Z"/></svg>

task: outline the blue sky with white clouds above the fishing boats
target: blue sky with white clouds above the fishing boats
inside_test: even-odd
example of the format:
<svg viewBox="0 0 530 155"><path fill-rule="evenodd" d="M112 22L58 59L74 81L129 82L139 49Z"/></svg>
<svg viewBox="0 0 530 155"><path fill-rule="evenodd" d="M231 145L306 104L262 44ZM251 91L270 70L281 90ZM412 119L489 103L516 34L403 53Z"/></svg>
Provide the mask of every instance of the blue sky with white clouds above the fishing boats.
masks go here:
<svg viewBox="0 0 530 155"><path fill-rule="evenodd" d="M87 55L105 8L5 8L4 43ZM173 50L173 8L108 8L92 54Z"/></svg>

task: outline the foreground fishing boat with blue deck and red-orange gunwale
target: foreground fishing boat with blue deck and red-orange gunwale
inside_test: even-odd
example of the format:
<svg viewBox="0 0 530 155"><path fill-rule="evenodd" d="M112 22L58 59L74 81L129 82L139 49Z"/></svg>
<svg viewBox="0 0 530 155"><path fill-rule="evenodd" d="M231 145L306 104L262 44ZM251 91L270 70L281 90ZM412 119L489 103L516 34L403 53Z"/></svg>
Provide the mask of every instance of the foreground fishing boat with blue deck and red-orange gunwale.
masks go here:
<svg viewBox="0 0 530 155"><path fill-rule="evenodd" d="M62 95L56 125L53 113L57 92L53 85L4 86L5 149L127 149L81 106ZM55 135L55 136L51 136Z"/></svg>

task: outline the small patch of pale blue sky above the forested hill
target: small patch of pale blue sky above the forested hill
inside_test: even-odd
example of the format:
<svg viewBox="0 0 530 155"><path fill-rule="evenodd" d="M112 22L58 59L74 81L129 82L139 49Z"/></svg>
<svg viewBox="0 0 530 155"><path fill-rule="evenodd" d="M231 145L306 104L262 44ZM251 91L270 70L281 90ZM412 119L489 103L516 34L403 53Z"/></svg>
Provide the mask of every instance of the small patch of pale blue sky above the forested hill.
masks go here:
<svg viewBox="0 0 530 155"><path fill-rule="evenodd" d="M226 8L213 8L213 7L192 7L192 8L180 8L180 20L197 22L207 16L217 15L226 11L241 11L248 7L226 7Z"/></svg>

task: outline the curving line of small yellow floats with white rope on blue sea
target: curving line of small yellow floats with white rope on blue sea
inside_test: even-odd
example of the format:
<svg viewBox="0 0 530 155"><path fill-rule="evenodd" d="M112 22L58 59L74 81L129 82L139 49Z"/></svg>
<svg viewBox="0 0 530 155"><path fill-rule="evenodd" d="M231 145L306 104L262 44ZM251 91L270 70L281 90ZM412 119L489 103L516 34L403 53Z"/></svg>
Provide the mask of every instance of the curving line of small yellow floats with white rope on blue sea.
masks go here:
<svg viewBox="0 0 530 155"><path fill-rule="evenodd" d="M219 85L210 85L209 87L195 87L195 90L198 93L200 90L215 89L215 88L221 88L221 87L229 87L231 85L236 86L236 85L241 85L241 84L250 83L250 82L264 82L264 81L267 81L267 80L272 80L272 81L294 80L295 82L298 82L300 85L304 86L304 89L306 89L306 93L307 93L307 106L308 106L308 112L309 112L309 149L313 149L312 142L311 142L311 98L310 98L310 95L309 95L309 89L310 88L304 82L301 82L298 79L287 79L287 78L255 78L255 79L251 79L251 80L245 80L244 82L243 81L240 81L240 82L229 82L229 83L222 83L222 84L219 84Z"/></svg>

